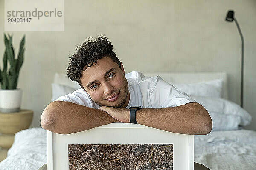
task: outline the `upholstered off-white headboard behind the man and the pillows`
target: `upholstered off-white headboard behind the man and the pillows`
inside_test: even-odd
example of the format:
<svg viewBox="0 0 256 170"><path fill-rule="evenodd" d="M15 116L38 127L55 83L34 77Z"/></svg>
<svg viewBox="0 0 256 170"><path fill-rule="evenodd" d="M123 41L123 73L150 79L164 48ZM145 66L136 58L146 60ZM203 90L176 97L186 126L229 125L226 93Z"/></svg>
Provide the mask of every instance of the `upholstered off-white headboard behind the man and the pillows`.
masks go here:
<svg viewBox="0 0 256 170"><path fill-rule="evenodd" d="M171 72L152 72L143 73L145 77L153 77L160 75L167 82L175 83L193 83L201 81L210 81L214 79L223 79L222 96L228 99L227 92L227 73L226 72L194 72L194 73L171 73ZM81 88L75 81L71 81L67 77L67 73L55 73L54 82L62 85L67 85L73 88Z"/></svg>

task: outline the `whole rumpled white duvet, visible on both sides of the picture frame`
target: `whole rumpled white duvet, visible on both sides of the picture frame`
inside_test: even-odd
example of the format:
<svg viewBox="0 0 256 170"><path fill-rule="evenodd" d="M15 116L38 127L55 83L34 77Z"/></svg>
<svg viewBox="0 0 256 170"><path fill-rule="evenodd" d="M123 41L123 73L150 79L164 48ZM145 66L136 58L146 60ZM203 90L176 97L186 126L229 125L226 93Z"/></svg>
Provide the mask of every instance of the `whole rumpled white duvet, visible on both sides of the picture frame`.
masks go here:
<svg viewBox="0 0 256 170"><path fill-rule="evenodd" d="M194 161L211 170L256 170L256 131L225 130L195 135ZM0 170L38 170L47 163L47 131L22 130Z"/></svg>

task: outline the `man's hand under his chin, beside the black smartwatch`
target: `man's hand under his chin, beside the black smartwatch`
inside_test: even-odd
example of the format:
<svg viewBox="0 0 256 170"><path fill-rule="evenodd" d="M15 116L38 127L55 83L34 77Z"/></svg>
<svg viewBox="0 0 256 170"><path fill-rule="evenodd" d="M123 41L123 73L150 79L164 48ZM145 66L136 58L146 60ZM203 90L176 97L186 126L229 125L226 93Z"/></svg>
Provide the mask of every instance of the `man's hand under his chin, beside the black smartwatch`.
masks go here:
<svg viewBox="0 0 256 170"><path fill-rule="evenodd" d="M130 123L130 110L127 108L113 108L108 106L99 107L100 110L107 112L110 116L120 122Z"/></svg>

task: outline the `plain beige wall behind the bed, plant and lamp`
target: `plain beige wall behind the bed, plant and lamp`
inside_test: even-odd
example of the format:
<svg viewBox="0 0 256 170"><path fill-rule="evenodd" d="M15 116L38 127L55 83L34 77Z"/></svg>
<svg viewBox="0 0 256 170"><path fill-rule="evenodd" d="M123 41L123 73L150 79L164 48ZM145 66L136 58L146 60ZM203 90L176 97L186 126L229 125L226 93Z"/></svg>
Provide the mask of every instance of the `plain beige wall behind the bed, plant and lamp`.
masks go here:
<svg viewBox="0 0 256 170"><path fill-rule="evenodd" d="M112 42L126 72L226 71L229 98L240 104L241 39L235 23L224 21L229 9L245 40L244 108L253 116L246 128L256 130L256 0L66 0L64 32L13 32L16 50L26 34L21 108L34 110L32 127L39 127L54 73L66 71L76 45L99 35ZM3 15L0 0L0 62Z"/></svg>

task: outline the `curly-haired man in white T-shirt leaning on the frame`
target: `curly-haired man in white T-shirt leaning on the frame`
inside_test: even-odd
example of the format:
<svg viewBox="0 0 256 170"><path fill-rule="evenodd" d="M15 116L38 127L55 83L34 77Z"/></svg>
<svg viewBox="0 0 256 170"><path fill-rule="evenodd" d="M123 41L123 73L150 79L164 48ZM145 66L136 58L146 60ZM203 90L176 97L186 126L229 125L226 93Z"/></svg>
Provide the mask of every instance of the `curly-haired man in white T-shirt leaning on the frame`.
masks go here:
<svg viewBox="0 0 256 170"><path fill-rule="evenodd" d="M43 111L41 126L70 134L113 122L134 122L183 134L208 134L207 110L161 77L125 74L106 37L88 40L70 57L67 75L81 89L61 96ZM131 106L141 109L131 111ZM195 163L195 170L207 169Z"/></svg>

